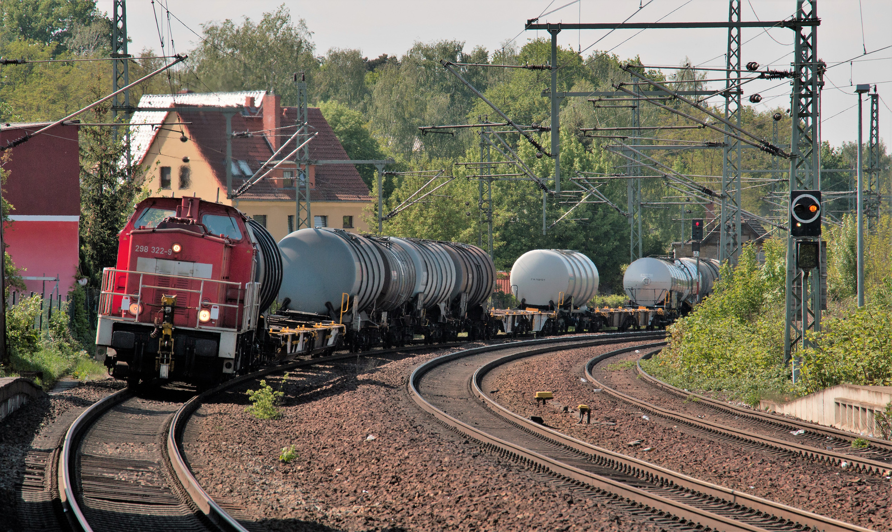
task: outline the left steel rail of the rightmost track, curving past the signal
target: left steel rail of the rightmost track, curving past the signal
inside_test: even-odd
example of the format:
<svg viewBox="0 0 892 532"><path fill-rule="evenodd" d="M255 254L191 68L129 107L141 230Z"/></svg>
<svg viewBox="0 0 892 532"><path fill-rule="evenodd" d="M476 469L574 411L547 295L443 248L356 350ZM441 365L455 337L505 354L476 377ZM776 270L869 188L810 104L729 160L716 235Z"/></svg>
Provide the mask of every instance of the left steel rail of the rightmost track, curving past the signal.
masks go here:
<svg viewBox="0 0 892 532"><path fill-rule="evenodd" d="M590 380L591 383L595 384L596 387L601 388L607 394L613 395L617 399L624 401L626 403L631 403L639 408L643 408L645 410L651 411L654 414L662 416L664 418L673 420L678 423L683 423L685 425L693 426L699 428L701 430L706 430L707 432L711 432L714 434L722 434L724 436L731 436L735 439L747 441L749 443L754 443L756 445L763 445L766 447L772 447L774 449L780 449L781 451L786 451L789 453L801 454L805 458L818 459L821 461L827 461L830 464L837 465L841 464L843 461L847 461L855 467L855 470L864 470L867 472L884 472L889 470L890 466L888 463L873 461L870 459L863 459L858 456L853 456L850 454L843 453L834 453L833 451L822 450L817 447L813 447L811 445L801 445L795 442L788 442L785 440L781 440L772 436L764 436L760 434L755 434L753 432L749 432L747 430L743 430L740 428L728 427L727 425L723 425L721 423L714 423L712 421L701 420L699 418L695 418L693 416L689 416L686 414L682 414L677 411L671 411L660 406L657 406L653 403L648 403L647 401L642 401L632 395L624 394L616 390L613 387L607 386L603 381L594 378L591 374L592 368L594 368L595 364L600 362L600 360L596 358L591 359L591 361L587 362L585 365L585 376ZM776 421L775 421L776 422Z"/></svg>

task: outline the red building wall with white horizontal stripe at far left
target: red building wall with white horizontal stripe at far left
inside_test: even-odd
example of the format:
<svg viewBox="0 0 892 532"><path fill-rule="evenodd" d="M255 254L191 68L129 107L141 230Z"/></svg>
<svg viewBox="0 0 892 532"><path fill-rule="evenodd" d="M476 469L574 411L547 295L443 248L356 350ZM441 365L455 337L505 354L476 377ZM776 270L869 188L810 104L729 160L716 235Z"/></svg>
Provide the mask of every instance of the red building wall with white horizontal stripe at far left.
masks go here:
<svg viewBox="0 0 892 532"><path fill-rule="evenodd" d="M0 129L6 145L45 124L11 124ZM29 292L51 290L67 294L78 270L80 179L78 127L57 126L47 134L6 151L4 198L12 204L12 223L5 227L6 251L23 277L59 278L28 280Z"/></svg>

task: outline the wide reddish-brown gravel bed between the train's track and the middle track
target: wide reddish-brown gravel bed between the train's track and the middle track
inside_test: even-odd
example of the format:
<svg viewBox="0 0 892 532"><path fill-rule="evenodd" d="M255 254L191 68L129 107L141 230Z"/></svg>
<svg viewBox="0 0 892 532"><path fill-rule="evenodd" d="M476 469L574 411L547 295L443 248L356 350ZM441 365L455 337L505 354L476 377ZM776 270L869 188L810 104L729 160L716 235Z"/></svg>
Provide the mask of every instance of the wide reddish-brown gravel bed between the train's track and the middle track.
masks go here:
<svg viewBox="0 0 892 532"><path fill-rule="evenodd" d="M188 423L186 458L252 530L659 529L484 451L421 411L409 374L448 352L269 377L285 393L278 420L245 411L244 392L257 382L217 395ZM280 461L291 445L296 457Z"/></svg>

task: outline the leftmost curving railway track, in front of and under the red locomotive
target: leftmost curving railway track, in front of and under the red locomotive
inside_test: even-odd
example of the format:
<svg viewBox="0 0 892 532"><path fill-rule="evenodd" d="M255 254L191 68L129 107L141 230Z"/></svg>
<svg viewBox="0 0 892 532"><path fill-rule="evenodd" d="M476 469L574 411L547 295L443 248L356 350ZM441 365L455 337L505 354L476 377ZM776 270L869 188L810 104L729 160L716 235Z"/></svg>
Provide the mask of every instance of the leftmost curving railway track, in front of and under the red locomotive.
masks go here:
<svg viewBox="0 0 892 532"><path fill-rule="evenodd" d="M142 396L127 389L108 395L74 420L62 443L57 474L62 519L67 528L79 532L247 532L199 486L182 453L186 422L206 398L294 368L457 345L414 345L290 362L234 378L202 394L164 387Z"/></svg>

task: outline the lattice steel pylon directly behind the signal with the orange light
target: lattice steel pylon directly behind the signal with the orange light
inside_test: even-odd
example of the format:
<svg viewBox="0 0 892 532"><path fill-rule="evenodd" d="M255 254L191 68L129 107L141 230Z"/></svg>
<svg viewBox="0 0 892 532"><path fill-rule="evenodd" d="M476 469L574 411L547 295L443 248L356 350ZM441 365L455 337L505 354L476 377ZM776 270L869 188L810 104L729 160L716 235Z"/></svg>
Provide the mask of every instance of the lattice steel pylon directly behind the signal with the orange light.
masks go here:
<svg viewBox="0 0 892 532"><path fill-rule="evenodd" d="M817 19L817 0L797 0L796 21ZM821 89L823 71L826 68L818 59L818 29L816 26L795 28L793 93L790 114L789 189L821 189ZM789 195L787 197L789 201ZM789 212L789 209L788 209ZM788 218L789 219L789 218ZM816 238L819 242L821 238ZM824 254L821 245L822 255ZM824 262L823 260L820 262ZM808 272L804 282L803 271L797 268L796 239L787 238L787 317L784 328L784 362L793 358L793 350L801 342L808 347L805 333L821 330L822 268ZM796 289L798 287L798 289ZM804 308L805 307L805 308ZM797 369L793 370L794 381Z"/></svg>

